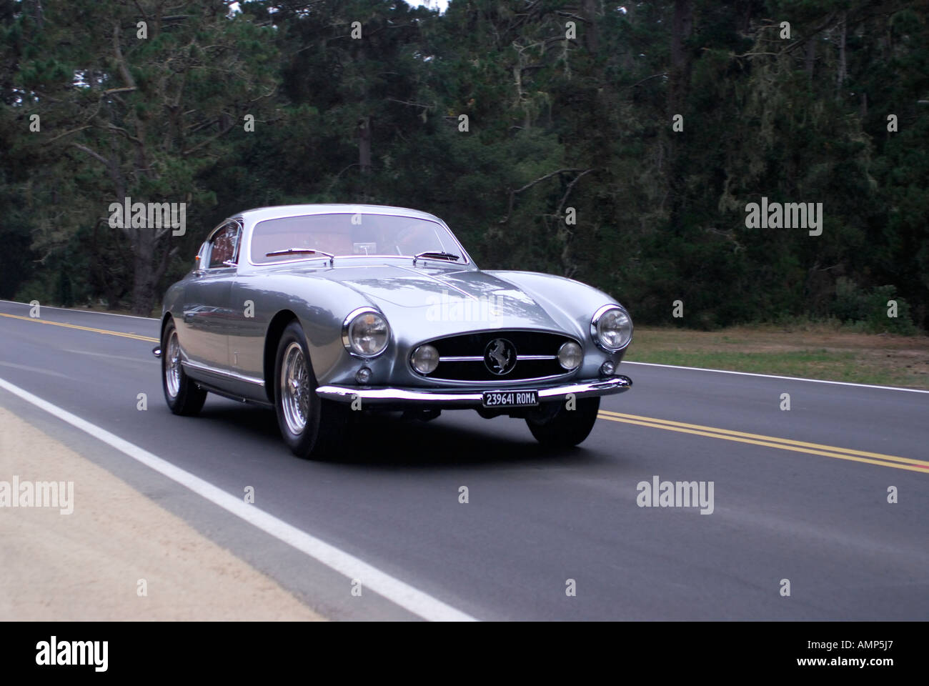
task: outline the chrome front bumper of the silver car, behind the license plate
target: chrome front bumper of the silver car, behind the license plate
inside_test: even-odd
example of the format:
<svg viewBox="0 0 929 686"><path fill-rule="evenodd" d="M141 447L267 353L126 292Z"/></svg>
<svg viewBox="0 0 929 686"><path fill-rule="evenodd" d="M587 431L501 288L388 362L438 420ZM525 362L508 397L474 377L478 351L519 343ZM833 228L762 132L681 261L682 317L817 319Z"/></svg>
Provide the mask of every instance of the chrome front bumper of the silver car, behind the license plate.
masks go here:
<svg viewBox="0 0 929 686"><path fill-rule="evenodd" d="M611 395L622 393L633 386L633 380L628 376L611 376L599 381L582 381L581 383L564 384L562 386L549 386L543 388L533 387L507 387L506 384L490 387L487 390L536 390L539 402L561 401L569 393L575 398L588 398L598 395ZM352 402L360 399L362 404L384 405L420 405L433 407L482 407L483 390L479 389L371 389L351 388L348 386L321 386L316 389L317 395L326 400L337 402Z"/></svg>

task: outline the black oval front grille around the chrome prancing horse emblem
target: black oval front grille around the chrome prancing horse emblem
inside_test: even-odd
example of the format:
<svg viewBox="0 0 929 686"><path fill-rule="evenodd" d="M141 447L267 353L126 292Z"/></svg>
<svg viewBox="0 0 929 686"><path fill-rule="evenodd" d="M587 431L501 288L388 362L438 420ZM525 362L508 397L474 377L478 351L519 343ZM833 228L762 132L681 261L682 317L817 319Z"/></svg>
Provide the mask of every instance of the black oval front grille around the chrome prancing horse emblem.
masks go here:
<svg viewBox="0 0 929 686"><path fill-rule="evenodd" d="M496 338L504 338L516 349L516 364L506 374L491 372L484 363L484 351ZM445 381L524 381L546 376L565 376L566 371L558 363L558 349L574 338L541 331L493 330L475 334L462 334L428 341L438 350L438 367L427 378ZM527 359L543 357L547 359ZM450 360L448 358L470 358Z"/></svg>

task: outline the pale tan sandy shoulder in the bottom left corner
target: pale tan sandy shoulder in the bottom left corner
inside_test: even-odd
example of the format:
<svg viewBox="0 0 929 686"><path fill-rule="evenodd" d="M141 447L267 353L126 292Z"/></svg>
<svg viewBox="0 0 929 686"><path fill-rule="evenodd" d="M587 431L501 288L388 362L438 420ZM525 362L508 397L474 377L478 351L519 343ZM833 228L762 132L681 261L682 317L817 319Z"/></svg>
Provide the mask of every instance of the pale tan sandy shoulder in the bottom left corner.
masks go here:
<svg viewBox="0 0 929 686"><path fill-rule="evenodd" d="M20 494L36 490L36 482L72 482L72 503L10 507L3 489L16 497L14 479ZM0 504L0 620L323 619L266 574L3 408Z"/></svg>

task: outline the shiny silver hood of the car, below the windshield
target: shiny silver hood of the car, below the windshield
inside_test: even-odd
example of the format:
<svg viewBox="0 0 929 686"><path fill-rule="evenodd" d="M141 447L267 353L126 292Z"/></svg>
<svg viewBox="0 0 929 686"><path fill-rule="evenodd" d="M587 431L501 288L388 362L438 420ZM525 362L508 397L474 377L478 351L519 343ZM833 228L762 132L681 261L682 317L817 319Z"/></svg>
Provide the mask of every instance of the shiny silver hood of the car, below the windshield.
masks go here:
<svg viewBox="0 0 929 686"><path fill-rule="evenodd" d="M425 321L437 334L487 328L564 330L567 324L526 290L480 270L372 265L336 268L326 278L368 298L391 323L397 318Z"/></svg>

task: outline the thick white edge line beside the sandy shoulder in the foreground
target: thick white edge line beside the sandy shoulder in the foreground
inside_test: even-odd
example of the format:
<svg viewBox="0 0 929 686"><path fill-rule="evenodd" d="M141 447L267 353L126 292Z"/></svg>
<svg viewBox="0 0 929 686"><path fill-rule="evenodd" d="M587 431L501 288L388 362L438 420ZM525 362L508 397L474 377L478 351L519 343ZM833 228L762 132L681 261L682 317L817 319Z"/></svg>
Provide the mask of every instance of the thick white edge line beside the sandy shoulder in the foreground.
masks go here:
<svg viewBox="0 0 929 686"><path fill-rule="evenodd" d="M218 505L220 508L225 509L236 517L247 521L278 540L295 547L300 552L307 554L316 561L322 562L339 574L344 574L349 579L360 579L364 587L370 588L375 593L399 605L399 607L402 607L404 610L408 610L430 621L477 621L475 617L456 610L451 607L451 605L447 605L441 600L433 598L423 591L409 584L405 584L389 574L381 572L367 562L360 561L353 555L349 555L347 552L297 529L286 521L281 521L277 517L268 514L268 512L255 508L254 505L245 503L242 498L226 493L212 483L203 481L200 477L194 476L189 471L176 467L158 455L153 455L133 443L124 441L110 431L100 429L98 426L91 424L85 419L72 415L67 410L61 409L58 405L42 400L28 390L20 389L19 386L14 386L6 379L0 378L0 388L8 390L10 393L19 396L26 402L31 402L50 415L57 416L62 421L71 424L72 427L85 431L85 433L90 434L98 439L98 441L111 445L116 450L124 453L124 455L132 457L137 462L154 469L168 479L189 488L195 494L201 495L211 503Z"/></svg>

